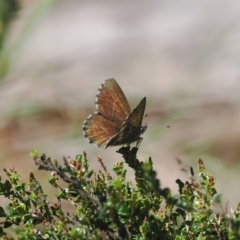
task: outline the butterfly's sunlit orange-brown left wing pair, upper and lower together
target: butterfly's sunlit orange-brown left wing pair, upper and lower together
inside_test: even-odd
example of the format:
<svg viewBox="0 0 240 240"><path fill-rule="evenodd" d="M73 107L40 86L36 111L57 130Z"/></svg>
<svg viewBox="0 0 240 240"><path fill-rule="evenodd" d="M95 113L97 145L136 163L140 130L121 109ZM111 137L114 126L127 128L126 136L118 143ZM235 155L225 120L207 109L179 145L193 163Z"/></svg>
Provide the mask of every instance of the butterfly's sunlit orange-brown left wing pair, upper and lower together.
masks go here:
<svg viewBox="0 0 240 240"><path fill-rule="evenodd" d="M122 129L131 110L129 103L115 79L107 79L99 88L97 112L83 123L83 133L90 143L104 146Z"/></svg>

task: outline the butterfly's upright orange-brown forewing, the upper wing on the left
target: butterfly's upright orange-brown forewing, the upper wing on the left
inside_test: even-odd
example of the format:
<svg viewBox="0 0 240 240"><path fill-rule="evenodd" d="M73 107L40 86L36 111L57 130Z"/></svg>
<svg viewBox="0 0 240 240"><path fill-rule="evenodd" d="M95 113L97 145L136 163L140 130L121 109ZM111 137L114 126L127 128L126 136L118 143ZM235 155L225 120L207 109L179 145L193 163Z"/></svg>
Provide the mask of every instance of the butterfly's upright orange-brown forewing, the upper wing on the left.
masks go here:
<svg viewBox="0 0 240 240"><path fill-rule="evenodd" d="M99 89L97 111L119 124L129 116L131 112L129 103L115 79L106 80Z"/></svg>

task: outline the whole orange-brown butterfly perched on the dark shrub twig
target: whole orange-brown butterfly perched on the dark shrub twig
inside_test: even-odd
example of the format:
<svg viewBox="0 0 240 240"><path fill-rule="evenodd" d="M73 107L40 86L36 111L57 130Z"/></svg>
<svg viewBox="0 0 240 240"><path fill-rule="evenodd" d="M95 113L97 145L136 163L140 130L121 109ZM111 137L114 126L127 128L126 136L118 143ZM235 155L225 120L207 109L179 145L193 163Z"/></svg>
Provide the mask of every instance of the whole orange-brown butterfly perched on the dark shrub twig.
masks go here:
<svg viewBox="0 0 240 240"><path fill-rule="evenodd" d="M129 103L114 78L107 79L99 88L96 112L83 123L83 134L98 147L117 146L142 141L140 135L147 126L142 126L146 97L132 112Z"/></svg>

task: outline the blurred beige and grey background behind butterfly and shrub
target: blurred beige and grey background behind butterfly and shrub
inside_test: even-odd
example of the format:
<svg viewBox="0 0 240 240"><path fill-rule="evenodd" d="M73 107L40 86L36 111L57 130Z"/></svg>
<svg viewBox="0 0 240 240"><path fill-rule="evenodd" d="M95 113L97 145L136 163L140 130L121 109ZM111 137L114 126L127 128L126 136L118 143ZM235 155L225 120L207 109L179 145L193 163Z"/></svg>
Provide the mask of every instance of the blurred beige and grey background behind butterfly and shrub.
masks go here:
<svg viewBox="0 0 240 240"><path fill-rule="evenodd" d="M14 166L23 179L49 177L34 165L34 148L59 161L86 151L95 169L98 154L109 170L122 161L118 147L97 148L82 134L97 89L114 77L132 108L147 97L138 158L152 157L163 187L176 193L175 180L189 180L181 168L196 169L201 157L235 208L239 10L239 1L217 0L0 0L0 174Z"/></svg>

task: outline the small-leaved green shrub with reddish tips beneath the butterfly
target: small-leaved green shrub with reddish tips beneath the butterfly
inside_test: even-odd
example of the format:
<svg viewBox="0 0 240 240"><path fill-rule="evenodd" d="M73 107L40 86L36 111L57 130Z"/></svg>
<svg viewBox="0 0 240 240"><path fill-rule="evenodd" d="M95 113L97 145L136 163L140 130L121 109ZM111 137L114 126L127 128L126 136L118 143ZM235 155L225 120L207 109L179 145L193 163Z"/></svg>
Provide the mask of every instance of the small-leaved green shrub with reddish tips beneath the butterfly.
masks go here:
<svg viewBox="0 0 240 240"><path fill-rule="evenodd" d="M0 208L0 236L11 239L5 230L13 229L17 239L239 239L240 205L235 211L221 210L221 196L215 179L198 159L198 180L177 180L179 195L162 189L152 160L137 159L138 148L118 150L134 170L136 183L126 180L123 162L113 166L112 176L98 156L101 170L89 169L86 153L76 159L64 158L63 166L46 154L31 152L39 170L51 171L48 182L58 194L48 201L41 184L30 173L28 184L16 169L4 169L0 194L7 200ZM60 180L65 182L60 184ZM73 209L66 211L62 202ZM12 230L12 231L13 231Z"/></svg>

